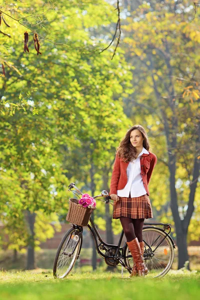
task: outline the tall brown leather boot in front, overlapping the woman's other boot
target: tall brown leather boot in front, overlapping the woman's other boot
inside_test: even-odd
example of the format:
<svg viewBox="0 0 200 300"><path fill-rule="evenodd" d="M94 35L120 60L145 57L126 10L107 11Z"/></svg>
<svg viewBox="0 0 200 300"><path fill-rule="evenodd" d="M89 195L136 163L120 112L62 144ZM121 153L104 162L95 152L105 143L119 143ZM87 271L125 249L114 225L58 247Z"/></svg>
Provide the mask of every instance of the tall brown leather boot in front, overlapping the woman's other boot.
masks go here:
<svg viewBox="0 0 200 300"><path fill-rule="evenodd" d="M131 241L126 241L128 248L130 250L130 253L132 255L133 261L137 268L137 275L138 276L144 276L144 263L141 256L141 249L138 242L137 237L132 239ZM133 271L133 270L132 270ZM130 277L132 277L133 274L130 274Z"/></svg>

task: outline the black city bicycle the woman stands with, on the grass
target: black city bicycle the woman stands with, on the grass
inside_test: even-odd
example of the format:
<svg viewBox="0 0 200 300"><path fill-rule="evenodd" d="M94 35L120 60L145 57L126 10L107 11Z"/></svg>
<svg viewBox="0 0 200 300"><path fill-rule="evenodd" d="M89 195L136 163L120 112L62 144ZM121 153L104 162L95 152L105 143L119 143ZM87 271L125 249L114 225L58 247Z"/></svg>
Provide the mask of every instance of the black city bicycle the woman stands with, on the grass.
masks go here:
<svg viewBox="0 0 200 300"><path fill-rule="evenodd" d="M74 188L78 194L72 190L72 188ZM70 190L78 197L79 194L82 195L82 192L73 182L68 185L68 191ZM105 197L105 200L98 199L99 197ZM105 204L110 203L110 196L106 190L101 191L100 195L93 196L93 198L97 198ZM90 224L88 223L86 227L92 234L97 253L104 258L106 264L109 266L121 265L122 268L124 267L131 273L131 266L133 265L132 256L126 242L121 246L124 234L123 230L121 231L117 245L108 244L102 240L91 217L89 218L89 222ZM143 261L149 270L148 277L164 276L173 263L175 244L169 235L171 231L170 225L169 223L144 223L142 229L144 241ZM162 226L163 229L156 226ZM168 230L168 232L166 232L166 230ZM80 255L82 231L82 226L72 224L71 228L60 241L53 262L53 276L55 278L64 278L73 268ZM97 239L99 242L97 242Z"/></svg>

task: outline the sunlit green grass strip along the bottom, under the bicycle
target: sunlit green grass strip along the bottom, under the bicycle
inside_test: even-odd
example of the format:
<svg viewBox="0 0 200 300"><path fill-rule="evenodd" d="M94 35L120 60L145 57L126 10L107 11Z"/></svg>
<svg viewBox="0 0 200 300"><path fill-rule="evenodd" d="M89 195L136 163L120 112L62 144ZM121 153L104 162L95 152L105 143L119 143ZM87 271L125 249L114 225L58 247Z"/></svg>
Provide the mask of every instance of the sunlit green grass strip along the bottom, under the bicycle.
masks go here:
<svg viewBox="0 0 200 300"><path fill-rule="evenodd" d="M51 270L0 272L0 299L198 299L200 272L171 270L163 278L132 278L127 273L73 272L54 279Z"/></svg>

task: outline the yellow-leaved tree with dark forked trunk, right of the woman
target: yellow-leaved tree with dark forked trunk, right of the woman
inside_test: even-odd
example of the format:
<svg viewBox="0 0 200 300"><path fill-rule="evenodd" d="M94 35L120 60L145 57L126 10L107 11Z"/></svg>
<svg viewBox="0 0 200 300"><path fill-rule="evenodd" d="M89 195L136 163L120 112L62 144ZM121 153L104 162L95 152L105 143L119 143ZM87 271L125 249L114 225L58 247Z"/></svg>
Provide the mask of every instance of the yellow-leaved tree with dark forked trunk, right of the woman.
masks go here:
<svg viewBox="0 0 200 300"><path fill-rule="evenodd" d="M127 105L152 114L154 119L147 117L149 130L157 124L154 135L164 132L166 138L168 161L162 162L169 171L170 207L181 249L178 268L188 260L186 237L199 176L199 39L197 20L189 22L192 13L188 1L143 3L123 27L129 35L124 38L130 46L126 55L134 67L134 100Z"/></svg>

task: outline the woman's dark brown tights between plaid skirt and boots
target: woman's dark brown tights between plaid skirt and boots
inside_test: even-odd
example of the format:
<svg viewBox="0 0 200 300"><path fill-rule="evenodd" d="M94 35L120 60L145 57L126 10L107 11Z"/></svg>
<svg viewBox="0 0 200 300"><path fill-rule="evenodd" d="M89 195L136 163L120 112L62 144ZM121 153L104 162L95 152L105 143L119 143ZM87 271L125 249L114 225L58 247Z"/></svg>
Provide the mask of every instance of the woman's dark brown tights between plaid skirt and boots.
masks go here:
<svg viewBox="0 0 200 300"><path fill-rule="evenodd" d="M137 237L138 241L142 241L142 227L144 219L132 219L130 217L121 216L120 218L121 226L123 228L125 237L127 241L131 241Z"/></svg>

